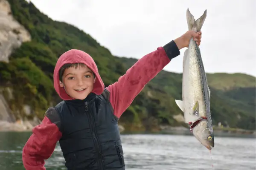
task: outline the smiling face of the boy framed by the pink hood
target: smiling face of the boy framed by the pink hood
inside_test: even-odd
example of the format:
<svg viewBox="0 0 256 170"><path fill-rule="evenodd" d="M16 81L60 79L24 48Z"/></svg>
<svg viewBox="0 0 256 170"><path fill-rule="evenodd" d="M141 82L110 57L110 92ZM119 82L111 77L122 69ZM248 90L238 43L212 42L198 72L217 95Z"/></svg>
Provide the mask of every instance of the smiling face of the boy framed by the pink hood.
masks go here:
<svg viewBox="0 0 256 170"><path fill-rule="evenodd" d="M93 90L93 71L86 66L70 67L64 71L60 86L64 87L67 94L75 99L85 99Z"/></svg>

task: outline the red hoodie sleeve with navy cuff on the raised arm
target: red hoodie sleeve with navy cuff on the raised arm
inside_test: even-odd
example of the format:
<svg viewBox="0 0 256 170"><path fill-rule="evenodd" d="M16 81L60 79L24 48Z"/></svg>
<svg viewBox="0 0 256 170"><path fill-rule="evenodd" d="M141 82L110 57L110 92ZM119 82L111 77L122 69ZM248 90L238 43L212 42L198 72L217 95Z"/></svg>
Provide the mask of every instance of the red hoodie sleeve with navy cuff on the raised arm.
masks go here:
<svg viewBox="0 0 256 170"><path fill-rule="evenodd" d="M109 85L106 89L115 116L120 118L144 86L178 55L180 51L172 40L139 59L117 82Z"/></svg>

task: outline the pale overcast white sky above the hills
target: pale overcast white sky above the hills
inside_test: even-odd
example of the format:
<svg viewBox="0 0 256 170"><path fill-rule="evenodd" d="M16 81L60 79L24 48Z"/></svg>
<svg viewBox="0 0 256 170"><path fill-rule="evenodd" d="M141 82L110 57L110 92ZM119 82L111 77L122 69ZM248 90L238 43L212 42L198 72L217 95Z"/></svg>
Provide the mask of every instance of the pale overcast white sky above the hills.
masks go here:
<svg viewBox="0 0 256 170"><path fill-rule="evenodd" d="M84 30L113 55L137 59L188 30L187 8L195 18L207 9L200 45L206 72L256 76L256 0L31 1L53 20ZM184 51L164 69L182 72Z"/></svg>

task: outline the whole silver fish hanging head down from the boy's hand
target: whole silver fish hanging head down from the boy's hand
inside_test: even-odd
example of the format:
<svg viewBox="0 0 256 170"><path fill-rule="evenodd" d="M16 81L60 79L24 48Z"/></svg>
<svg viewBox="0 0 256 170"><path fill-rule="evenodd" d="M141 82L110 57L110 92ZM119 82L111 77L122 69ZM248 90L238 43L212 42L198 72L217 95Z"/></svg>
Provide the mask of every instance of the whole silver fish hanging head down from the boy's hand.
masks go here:
<svg viewBox="0 0 256 170"><path fill-rule="evenodd" d="M186 20L189 30L201 31L206 16L207 9L195 20L187 8ZM208 150L214 147L210 95L201 51L191 38L183 56L182 100L175 99L175 102L183 111L184 121L190 125L193 136Z"/></svg>

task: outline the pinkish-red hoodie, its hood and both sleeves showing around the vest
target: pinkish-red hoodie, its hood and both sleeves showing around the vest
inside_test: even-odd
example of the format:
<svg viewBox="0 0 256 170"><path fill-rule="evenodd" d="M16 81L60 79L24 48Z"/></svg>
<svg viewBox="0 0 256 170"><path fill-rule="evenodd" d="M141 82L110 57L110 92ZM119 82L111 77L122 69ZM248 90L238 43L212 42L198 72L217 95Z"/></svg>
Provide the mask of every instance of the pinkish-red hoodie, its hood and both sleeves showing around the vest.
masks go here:
<svg viewBox="0 0 256 170"><path fill-rule="evenodd" d="M144 86L170 62L171 58L177 55L179 55L179 51L174 42L169 43L166 49L159 47L156 51L139 59L117 82L109 85L106 89L110 92L110 102L114 114L120 118ZM92 92L97 95L102 94L104 84L92 57L83 51L72 49L61 55L54 70L54 88L61 99L71 100L72 98L59 86L58 72L62 65L76 62L86 64L95 73L96 82ZM35 126L32 132L32 136L23 147L24 167L26 170L46 170L44 160L52 155L56 142L62 134L56 122L51 122L47 115L45 115L41 125Z"/></svg>

